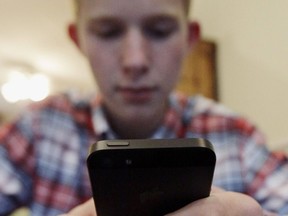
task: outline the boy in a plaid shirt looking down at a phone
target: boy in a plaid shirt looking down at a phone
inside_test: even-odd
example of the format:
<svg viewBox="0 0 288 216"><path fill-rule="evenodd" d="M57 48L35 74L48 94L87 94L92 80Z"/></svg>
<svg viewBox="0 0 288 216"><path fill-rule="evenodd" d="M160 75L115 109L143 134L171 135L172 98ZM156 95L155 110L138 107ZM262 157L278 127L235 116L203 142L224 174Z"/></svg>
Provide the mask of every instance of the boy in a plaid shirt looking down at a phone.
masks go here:
<svg viewBox="0 0 288 216"><path fill-rule="evenodd" d="M188 22L188 1L76 3L69 34L87 57L99 94L90 101L52 97L2 130L0 214L26 205L33 215L57 215L88 200L85 159L97 140L183 137L214 144L215 188L171 215L288 212L287 159L269 153L258 130L222 105L171 93L199 35ZM96 215L92 200L73 214Z"/></svg>

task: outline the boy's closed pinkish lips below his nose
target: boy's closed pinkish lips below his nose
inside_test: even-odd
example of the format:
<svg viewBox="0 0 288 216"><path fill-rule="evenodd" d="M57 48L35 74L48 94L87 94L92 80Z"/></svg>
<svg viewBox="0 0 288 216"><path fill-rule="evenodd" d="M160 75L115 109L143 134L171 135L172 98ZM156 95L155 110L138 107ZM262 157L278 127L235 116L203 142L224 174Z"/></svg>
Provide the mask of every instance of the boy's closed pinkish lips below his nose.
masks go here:
<svg viewBox="0 0 288 216"><path fill-rule="evenodd" d="M117 87L116 92L119 93L122 98L134 104L147 103L151 101L153 95L157 92L158 88L151 86L142 87Z"/></svg>

